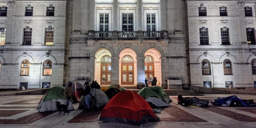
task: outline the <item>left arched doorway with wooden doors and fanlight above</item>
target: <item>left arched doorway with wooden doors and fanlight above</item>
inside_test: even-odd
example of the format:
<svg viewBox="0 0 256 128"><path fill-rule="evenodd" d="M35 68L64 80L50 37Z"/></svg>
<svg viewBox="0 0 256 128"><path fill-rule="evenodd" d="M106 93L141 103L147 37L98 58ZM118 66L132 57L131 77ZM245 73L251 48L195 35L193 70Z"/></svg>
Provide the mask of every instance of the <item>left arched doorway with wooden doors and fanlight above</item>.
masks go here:
<svg viewBox="0 0 256 128"><path fill-rule="evenodd" d="M101 59L101 84L111 84L111 57Z"/></svg>

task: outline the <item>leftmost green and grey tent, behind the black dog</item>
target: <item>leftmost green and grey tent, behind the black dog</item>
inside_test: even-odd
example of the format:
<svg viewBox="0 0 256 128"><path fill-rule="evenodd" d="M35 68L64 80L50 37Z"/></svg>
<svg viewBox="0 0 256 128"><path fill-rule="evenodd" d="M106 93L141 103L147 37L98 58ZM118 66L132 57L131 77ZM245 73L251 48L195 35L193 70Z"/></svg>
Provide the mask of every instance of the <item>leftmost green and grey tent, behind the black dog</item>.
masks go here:
<svg viewBox="0 0 256 128"><path fill-rule="evenodd" d="M61 104L66 104L66 98L64 97L64 88L56 86L51 88L45 95L42 97L41 101L38 104L37 110L39 112L45 111L57 111L56 101L61 102ZM75 110L72 102L68 105L68 110Z"/></svg>

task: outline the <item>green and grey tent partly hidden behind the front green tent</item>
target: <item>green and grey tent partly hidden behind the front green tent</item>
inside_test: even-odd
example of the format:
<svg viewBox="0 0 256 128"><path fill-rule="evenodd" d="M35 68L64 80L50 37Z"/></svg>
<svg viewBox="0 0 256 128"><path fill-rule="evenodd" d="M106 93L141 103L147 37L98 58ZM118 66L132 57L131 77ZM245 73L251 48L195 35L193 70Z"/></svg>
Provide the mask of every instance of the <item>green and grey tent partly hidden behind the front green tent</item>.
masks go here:
<svg viewBox="0 0 256 128"><path fill-rule="evenodd" d="M147 88L149 88L150 90L154 91L157 95L162 97L164 102L166 102L166 103L172 102L172 99L169 97L169 95L167 95L165 93L165 91L163 91L162 87L160 87L160 86L149 86Z"/></svg>

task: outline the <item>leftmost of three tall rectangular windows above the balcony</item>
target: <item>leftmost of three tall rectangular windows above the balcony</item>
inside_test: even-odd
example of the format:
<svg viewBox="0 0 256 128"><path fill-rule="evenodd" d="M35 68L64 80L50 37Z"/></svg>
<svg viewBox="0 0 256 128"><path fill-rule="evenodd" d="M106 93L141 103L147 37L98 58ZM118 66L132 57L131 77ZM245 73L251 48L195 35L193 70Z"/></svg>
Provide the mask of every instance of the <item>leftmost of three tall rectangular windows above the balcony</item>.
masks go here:
<svg viewBox="0 0 256 128"><path fill-rule="evenodd" d="M109 31L109 14L99 14L99 31Z"/></svg>

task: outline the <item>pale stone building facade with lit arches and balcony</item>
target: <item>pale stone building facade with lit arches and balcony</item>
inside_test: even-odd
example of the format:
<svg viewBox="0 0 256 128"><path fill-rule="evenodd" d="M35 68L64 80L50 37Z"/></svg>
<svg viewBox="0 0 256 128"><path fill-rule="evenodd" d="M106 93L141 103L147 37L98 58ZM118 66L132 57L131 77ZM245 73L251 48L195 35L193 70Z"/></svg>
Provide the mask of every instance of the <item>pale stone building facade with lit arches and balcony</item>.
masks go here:
<svg viewBox="0 0 256 128"><path fill-rule="evenodd" d="M163 88L252 87L255 2L1 0L0 89L152 77Z"/></svg>

